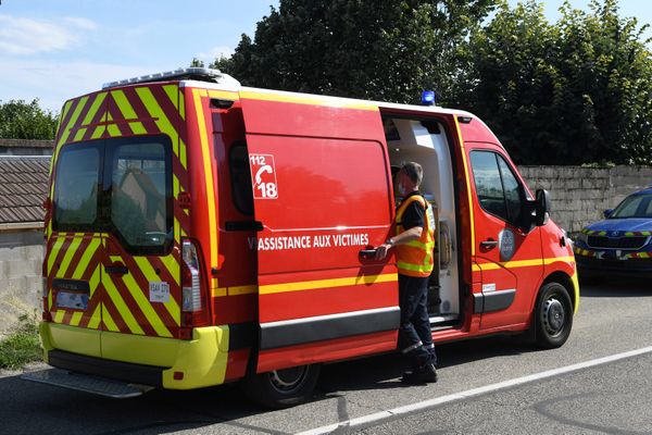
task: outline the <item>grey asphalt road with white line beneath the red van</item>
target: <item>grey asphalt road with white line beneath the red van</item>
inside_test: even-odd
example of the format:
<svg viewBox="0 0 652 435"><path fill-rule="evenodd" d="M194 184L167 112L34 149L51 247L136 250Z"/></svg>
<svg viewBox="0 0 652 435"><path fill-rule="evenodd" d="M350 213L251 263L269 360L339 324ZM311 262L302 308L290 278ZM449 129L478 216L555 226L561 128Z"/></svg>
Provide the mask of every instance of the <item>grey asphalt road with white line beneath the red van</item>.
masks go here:
<svg viewBox="0 0 652 435"><path fill-rule="evenodd" d="M507 337L441 345L440 381L417 387L399 382L402 365L396 355L331 364L324 368L313 401L274 412L255 408L235 386L112 400L4 373L0 434L652 433L652 353L463 397L479 387L649 347L651 312L650 282L584 285L573 333L560 349L536 350ZM394 413L437 399L442 402Z"/></svg>

